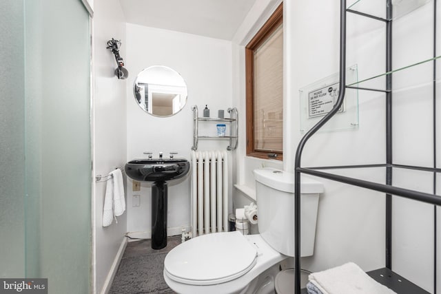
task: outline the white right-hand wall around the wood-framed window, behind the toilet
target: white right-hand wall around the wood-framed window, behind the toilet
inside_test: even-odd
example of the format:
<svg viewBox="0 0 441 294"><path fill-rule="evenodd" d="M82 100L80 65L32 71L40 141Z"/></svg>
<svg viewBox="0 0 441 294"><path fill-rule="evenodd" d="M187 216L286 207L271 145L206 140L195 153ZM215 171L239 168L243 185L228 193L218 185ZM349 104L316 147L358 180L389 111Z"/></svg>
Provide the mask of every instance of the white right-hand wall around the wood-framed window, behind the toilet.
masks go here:
<svg viewBox="0 0 441 294"><path fill-rule="evenodd" d="M242 122L245 121L243 47L253 35L250 32L256 31L256 23L263 23L262 19L269 15L268 7L276 6L274 2L257 1L260 9L254 11L254 17L249 17L254 21L245 19L243 27L234 39L234 103L241 110L239 113L242 115ZM298 91L306 85L338 72L339 6L340 1L337 0L284 2L284 108L286 113L284 112L283 169L287 171L294 169L294 154L302 136L299 132ZM427 35L432 34L432 30L430 26L427 27L427 22L431 22L431 17L423 17L423 15L431 14L430 12L427 14L424 10L431 10L431 7L422 8L421 11L416 12L416 15L412 14L411 17L396 21L395 66L423 60L428 54L427 58L430 57L431 52L427 50L431 49L431 44L430 37ZM358 64L359 80L384 72L383 25L350 14L347 23L347 66ZM402 28L399 26L400 23L401 25L403 23L416 25L417 29ZM405 55L400 53L402 48L407 54L411 53L411 60L406 59ZM421 75L423 74L418 73L413 76L400 77L397 83L405 85L409 81L414 81L416 76L421 78ZM384 85L384 79L378 85ZM362 91L358 95L359 128L316 134L305 147L302 166L356 165L385 161L384 95ZM430 122L431 119L427 115L430 113L428 99L421 98L417 103L411 100L415 96L421 96L421 91L411 92L409 96L403 95L396 95L407 99L404 105L396 105L396 109L416 108L419 112L412 116L412 119L409 119L409 115L397 114L394 117L393 123L396 131L394 160L405 164L418 162L418 165L431 166L430 136L432 130L431 127L424 125L427 120ZM237 152L236 182L239 185L252 187L254 186L252 169L260 165L274 165L274 160L247 158L245 156L245 123L240 125L240 132L243 136L240 137ZM402 139L398 140L398 134L404 135ZM422 140L424 144L420 144ZM340 174L352 176L356 174L360 178L378 182L384 182L385 176L384 171L379 169L351 170L340 172ZM329 180L318 180L325 183L325 193L320 196L316 248L313 257L302 260L302 267L309 271L320 271L348 261L356 262L365 271L383 267L384 195ZM420 186L423 190L430 190L431 187L430 179L416 178L411 173L396 173L395 181L402 187ZM236 197L240 196L239 193L237 192ZM431 241L433 212L431 211L433 207L409 203L409 201L408 203L402 202L406 201L396 200L394 204L393 268L428 291L433 291L433 281L431 281L433 280L431 274L433 266L433 249L431 248L433 247ZM409 216L413 217L409 218ZM414 238L413 233L417 233L418 238ZM409 259L409 255L414 253L415 258Z"/></svg>

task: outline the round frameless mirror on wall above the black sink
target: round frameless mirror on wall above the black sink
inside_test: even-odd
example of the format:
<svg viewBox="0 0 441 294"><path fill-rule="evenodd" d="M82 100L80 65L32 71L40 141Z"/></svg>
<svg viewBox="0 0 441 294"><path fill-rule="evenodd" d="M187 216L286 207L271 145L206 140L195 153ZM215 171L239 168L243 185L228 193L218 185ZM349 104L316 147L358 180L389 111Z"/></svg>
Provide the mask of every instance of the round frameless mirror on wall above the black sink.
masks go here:
<svg viewBox="0 0 441 294"><path fill-rule="evenodd" d="M136 76L136 103L148 114L172 116L187 102L187 84L181 74L163 65L147 67Z"/></svg>

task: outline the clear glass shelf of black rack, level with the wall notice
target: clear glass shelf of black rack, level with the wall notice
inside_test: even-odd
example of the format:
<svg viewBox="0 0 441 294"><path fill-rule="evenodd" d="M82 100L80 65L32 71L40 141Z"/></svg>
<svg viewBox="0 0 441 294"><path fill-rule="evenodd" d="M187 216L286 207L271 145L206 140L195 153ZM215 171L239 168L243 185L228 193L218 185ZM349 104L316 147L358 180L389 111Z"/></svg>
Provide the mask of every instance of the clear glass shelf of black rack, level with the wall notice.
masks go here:
<svg viewBox="0 0 441 294"><path fill-rule="evenodd" d="M405 90L406 88L420 87L429 83L433 83L433 76L431 72L433 71L433 63L440 56L433 57L431 59L426 59L418 63L413 63L404 67L397 68L396 70L391 70L390 72L384 72L376 76L371 76L369 78L361 79L361 81L356 81L355 83L348 83L347 87L360 87L369 88L381 91L387 90ZM429 76L428 76L429 73ZM389 74L393 74L393 89L386 88L385 77ZM400 78L405 80L405 83L399 83ZM398 80L398 81L396 81ZM396 83L398 82L398 83ZM437 83L440 81L437 80Z"/></svg>

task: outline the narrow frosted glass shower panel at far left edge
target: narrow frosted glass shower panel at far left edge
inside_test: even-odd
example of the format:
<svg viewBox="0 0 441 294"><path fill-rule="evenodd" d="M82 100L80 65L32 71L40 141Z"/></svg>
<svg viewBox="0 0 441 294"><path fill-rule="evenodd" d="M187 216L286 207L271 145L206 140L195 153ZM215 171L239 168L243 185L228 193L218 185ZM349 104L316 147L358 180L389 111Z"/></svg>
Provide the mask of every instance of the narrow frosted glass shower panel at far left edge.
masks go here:
<svg viewBox="0 0 441 294"><path fill-rule="evenodd" d="M0 6L0 277L24 275L23 1Z"/></svg>

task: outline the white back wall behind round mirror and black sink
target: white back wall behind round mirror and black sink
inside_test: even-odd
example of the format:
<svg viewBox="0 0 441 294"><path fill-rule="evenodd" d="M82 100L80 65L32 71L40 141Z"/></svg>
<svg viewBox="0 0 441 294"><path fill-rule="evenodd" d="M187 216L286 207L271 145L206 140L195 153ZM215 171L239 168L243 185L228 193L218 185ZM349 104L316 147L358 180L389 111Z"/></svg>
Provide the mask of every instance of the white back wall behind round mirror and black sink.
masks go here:
<svg viewBox="0 0 441 294"><path fill-rule="evenodd" d="M202 116L208 105L211 116L218 109L232 107L232 43L194 34L147 28L127 23L127 160L146 158L144 151L154 157L162 151L177 151L177 157L190 159L193 124L192 105ZM187 104L178 114L159 118L145 113L135 102L132 85L136 74L152 65L165 65L183 76L188 87ZM216 132L216 124L212 125ZM198 150L225 149L228 141L200 141ZM231 153L230 153L231 154ZM190 223L189 176L168 184L168 235L181 233ZM141 206L132 207L133 196L140 196ZM127 179L127 231L132 236L151 236L151 184L141 183L141 191L132 191Z"/></svg>

